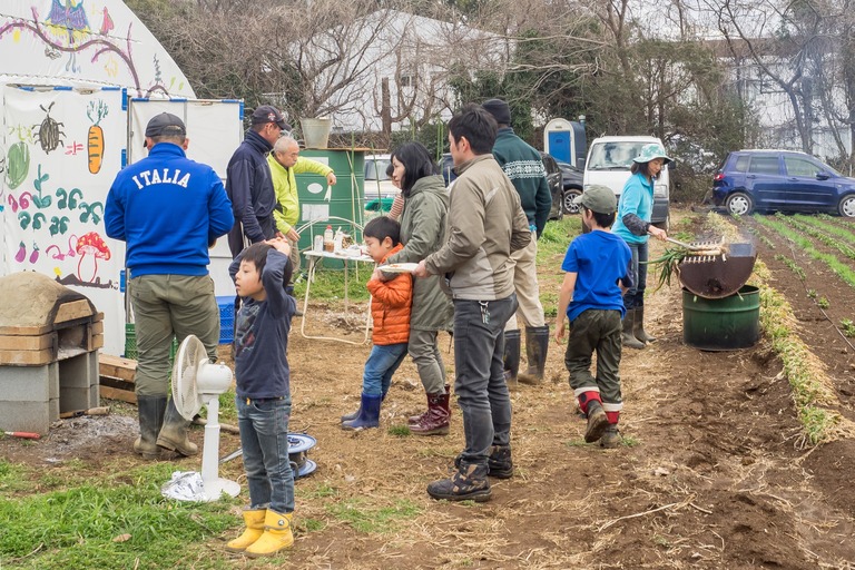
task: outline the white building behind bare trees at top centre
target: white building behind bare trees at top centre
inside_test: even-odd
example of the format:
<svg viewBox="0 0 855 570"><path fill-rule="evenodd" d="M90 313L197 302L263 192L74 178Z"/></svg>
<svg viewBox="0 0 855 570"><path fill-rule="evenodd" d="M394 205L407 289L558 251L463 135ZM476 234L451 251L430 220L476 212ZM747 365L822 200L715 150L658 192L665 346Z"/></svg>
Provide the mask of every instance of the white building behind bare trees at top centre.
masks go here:
<svg viewBox="0 0 855 570"><path fill-rule="evenodd" d="M348 31L352 37L341 41ZM334 131L351 132L383 130L384 120L391 130L402 130L428 118L449 119L456 104L452 72L501 72L512 49L505 38L461 23L377 10L296 40L292 55L302 68L321 69L325 53L341 53L341 65L315 78L313 96L318 115L332 117Z"/></svg>

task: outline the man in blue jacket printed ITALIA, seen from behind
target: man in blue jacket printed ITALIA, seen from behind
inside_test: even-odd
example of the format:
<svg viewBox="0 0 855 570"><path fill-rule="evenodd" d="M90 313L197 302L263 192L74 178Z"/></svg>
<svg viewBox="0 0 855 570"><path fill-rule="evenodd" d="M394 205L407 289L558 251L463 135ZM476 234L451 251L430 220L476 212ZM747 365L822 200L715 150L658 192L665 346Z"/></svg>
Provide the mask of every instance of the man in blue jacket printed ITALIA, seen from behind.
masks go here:
<svg viewBox="0 0 855 570"><path fill-rule="evenodd" d="M161 112L148 121L148 156L124 168L107 195L104 224L127 244L128 294L139 353L135 391L139 438L134 450L157 459L160 449L195 455L187 422L167 399L169 348L196 335L216 358L219 309L208 275L208 244L234 225L217 173L188 159L180 118Z"/></svg>

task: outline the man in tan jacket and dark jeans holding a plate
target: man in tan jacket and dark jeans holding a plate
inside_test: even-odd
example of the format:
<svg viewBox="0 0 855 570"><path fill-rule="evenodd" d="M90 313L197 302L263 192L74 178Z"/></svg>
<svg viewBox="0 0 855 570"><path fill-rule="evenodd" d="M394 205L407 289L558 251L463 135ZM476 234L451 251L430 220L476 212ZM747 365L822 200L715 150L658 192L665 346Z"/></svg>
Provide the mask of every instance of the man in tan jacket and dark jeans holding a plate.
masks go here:
<svg viewBox="0 0 855 570"><path fill-rule="evenodd" d="M428 485L434 499L487 501L488 475L513 474L502 332L518 306L511 253L529 244L531 232L519 194L493 158L495 136L495 119L478 105L449 121L458 178L450 188L448 242L415 269L417 277L444 275L454 303L454 392L465 435L458 471Z"/></svg>

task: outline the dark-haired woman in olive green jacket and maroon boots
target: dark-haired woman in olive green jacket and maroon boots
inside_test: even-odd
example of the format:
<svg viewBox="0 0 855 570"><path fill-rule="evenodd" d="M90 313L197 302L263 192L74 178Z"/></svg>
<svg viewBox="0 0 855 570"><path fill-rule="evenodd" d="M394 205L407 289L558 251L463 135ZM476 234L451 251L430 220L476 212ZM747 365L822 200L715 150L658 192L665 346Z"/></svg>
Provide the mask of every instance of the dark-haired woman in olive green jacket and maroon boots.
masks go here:
<svg viewBox="0 0 855 570"><path fill-rule="evenodd" d="M426 148L406 142L392 154L393 179L404 196L401 243L404 248L389 263L419 263L445 243L449 191ZM410 320L410 346L419 377L428 394L428 411L410 417L410 430L419 435L449 433L449 386L438 333L451 330L453 307L440 288L440 276L415 278Z"/></svg>

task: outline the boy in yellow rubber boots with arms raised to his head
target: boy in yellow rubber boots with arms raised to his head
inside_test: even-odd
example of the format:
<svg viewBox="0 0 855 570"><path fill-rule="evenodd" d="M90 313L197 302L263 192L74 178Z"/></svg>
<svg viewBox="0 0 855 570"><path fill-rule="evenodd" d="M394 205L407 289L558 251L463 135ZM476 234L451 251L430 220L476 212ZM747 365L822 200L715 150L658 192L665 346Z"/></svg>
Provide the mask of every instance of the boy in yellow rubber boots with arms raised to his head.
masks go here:
<svg viewBox="0 0 855 570"><path fill-rule="evenodd" d="M250 558L294 544L294 473L288 461L291 371L287 348L294 297L284 238L253 244L228 268L240 296L235 333L237 423L249 487L246 530L227 549Z"/></svg>

